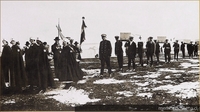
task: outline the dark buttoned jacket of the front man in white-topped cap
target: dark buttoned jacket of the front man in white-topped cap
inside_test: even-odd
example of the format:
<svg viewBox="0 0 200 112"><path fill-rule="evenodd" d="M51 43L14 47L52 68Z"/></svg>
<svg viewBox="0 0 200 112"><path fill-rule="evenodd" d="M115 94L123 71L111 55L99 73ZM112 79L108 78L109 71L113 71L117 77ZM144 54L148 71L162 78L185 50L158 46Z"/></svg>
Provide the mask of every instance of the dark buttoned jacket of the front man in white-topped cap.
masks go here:
<svg viewBox="0 0 200 112"><path fill-rule="evenodd" d="M99 58L100 59L105 59L109 58L112 53L112 46L110 41L108 40L103 40L100 42L99 45Z"/></svg>

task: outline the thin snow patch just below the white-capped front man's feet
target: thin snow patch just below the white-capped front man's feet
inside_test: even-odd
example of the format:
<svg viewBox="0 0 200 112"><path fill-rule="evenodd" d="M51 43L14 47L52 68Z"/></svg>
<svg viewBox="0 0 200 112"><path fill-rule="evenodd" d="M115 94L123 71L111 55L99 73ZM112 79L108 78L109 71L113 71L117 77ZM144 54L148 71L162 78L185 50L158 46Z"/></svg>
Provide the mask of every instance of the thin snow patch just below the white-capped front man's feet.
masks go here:
<svg viewBox="0 0 200 112"><path fill-rule="evenodd" d="M124 83L125 80L116 80L114 78L109 79L100 79L93 82L93 84L116 84L116 83Z"/></svg>

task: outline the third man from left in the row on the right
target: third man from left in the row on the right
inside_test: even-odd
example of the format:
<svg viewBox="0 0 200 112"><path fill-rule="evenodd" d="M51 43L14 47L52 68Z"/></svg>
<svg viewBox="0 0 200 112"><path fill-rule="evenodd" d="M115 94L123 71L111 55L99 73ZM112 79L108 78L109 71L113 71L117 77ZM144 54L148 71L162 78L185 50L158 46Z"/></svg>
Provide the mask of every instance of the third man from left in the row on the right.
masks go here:
<svg viewBox="0 0 200 112"><path fill-rule="evenodd" d="M136 43L133 41L133 37L129 37L129 41L127 41L127 54L128 54L128 70L135 71L135 56L136 56ZM133 69L131 70L131 62L133 64Z"/></svg>

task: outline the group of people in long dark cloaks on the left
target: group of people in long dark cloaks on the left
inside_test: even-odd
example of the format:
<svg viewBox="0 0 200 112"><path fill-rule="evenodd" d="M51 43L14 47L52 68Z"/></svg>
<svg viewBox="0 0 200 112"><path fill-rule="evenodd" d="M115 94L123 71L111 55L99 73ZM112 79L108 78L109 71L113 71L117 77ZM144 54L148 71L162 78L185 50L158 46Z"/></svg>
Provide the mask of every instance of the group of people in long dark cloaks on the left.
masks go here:
<svg viewBox="0 0 200 112"><path fill-rule="evenodd" d="M63 41L61 47L59 37L51 46L47 42L30 38L21 49L20 43L3 40L1 55L1 93L22 93L23 91L45 92L47 88L55 88L54 77L66 83L82 79L83 71L77 60L81 60L78 42ZM23 58L24 55L24 58ZM53 75L49 55L53 55L55 76Z"/></svg>

